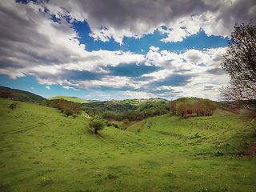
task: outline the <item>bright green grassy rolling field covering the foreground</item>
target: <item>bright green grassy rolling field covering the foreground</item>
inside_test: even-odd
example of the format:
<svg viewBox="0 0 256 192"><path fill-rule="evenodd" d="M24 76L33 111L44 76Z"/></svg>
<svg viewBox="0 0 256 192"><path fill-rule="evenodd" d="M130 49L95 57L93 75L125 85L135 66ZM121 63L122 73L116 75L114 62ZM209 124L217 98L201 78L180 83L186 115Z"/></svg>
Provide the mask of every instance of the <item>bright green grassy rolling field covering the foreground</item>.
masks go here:
<svg viewBox="0 0 256 192"><path fill-rule="evenodd" d="M255 191L256 123L239 115L149 118L96 138L88 118L0 99L0 191ZM137 133L137 129L142 131Z"/></svg>

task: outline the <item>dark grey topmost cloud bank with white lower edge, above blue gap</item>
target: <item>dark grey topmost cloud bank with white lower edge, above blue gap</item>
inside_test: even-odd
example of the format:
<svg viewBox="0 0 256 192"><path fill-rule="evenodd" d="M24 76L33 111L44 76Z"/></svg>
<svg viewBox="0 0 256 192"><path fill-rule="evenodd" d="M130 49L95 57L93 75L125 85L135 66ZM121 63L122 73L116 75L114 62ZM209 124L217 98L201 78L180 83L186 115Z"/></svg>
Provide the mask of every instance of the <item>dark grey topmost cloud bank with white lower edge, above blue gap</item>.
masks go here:
<svg viewBox="0 0 256 192"><path fill-rule="evenodd" d="M168 35L162 39L164 42L182 41L199 30L205 30L207 35L227 36L235 22L256 18L254 0L54 0L41 6L58 18L68 15L73 20L86 20L95 40L106 42L114 38L120 44L123 37L141 38L160 26L167 28L162 30Z"/></svg>

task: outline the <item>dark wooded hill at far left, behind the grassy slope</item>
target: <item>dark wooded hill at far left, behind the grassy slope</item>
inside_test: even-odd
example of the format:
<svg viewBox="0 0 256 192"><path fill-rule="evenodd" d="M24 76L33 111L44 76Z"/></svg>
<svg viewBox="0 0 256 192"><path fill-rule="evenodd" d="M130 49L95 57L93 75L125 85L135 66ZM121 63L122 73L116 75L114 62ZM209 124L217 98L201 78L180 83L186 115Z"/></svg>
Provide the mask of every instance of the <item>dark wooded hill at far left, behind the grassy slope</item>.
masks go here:
<svg viewBox="0 0 256 192"><path fill-rule="evenodd" d="M37 94L32 94L25 90L11 89L6 86L0 86L0 94L2 92L10 92L14 94L14 101L18 101L18 102L31 102L31 103L38 104L47 100L46 98L43 98L42 96L39 96Z"/></svg>

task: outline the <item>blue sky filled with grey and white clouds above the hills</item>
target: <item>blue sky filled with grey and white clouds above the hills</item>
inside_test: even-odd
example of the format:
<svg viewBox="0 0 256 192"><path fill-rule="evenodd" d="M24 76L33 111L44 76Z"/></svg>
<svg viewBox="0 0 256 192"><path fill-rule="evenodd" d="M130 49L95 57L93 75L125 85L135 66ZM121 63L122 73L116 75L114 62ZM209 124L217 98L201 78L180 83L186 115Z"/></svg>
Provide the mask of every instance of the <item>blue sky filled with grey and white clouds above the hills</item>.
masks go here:
<svg viewBox="0 0 256 192"><path fill-rule="evenodd" d="M0 0L0 85L50 98L218 101L255 0Z"/></svg>

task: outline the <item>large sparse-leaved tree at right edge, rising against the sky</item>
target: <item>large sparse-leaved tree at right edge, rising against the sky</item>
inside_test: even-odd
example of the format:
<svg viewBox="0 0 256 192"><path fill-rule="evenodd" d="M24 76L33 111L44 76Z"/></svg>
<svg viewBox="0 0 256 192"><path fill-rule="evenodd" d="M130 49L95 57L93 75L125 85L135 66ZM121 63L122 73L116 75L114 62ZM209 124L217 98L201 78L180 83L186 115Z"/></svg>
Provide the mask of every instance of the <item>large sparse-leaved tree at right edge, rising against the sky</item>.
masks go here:
<svg viewBox="0 0 256 192"><path fill-rule="evenodd" d="M234 26L222 69L230 76L230 85L222 87L220 99L243 104L256 104L256 26Z"/></svg>

